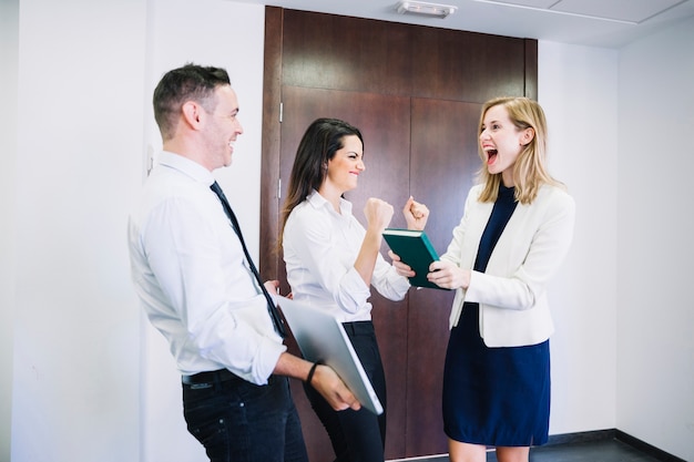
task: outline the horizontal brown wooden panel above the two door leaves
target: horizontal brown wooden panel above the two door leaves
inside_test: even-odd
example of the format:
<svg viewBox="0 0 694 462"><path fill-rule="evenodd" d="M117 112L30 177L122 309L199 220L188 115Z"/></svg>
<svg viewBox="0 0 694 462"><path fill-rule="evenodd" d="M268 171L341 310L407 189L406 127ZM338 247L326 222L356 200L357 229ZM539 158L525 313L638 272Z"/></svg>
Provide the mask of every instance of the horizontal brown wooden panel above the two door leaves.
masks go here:
<svg viewBox="0 0 694 462"><path fill-rule="evenodd" d="M284 11L285 84L478 103L537 97L537 85L525 84L537 80L527 72L537 69L537 47L527 40Z"/></svg>

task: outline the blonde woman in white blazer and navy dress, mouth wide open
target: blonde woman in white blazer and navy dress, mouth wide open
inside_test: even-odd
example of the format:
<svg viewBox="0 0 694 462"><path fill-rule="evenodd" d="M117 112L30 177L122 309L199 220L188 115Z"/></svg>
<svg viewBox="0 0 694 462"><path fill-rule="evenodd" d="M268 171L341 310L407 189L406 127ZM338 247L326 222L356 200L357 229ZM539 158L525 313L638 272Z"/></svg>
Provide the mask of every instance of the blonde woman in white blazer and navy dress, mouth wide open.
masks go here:
<svg viewBox="0 0 694 462"><path fill-rule="evenodd" d="M574 202L545 165L547 122L525 97L482 106L480 183L427 278L457 289L443 372L451 462L528 462L548 440L550 345L547 284L567 255ZM394 258L398 271L411 269Z"/></svg>

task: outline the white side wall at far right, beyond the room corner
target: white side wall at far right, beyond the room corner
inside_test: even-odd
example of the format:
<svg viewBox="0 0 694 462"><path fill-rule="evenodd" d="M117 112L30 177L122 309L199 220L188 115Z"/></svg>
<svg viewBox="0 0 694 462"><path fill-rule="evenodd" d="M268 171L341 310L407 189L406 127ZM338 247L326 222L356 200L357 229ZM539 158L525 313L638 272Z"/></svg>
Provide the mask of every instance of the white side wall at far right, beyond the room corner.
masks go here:
<svg viewBox="0 0 694 462"><path fill-rule="evenodd" d="M694 18L620 52L618 427L694 460ZM614 127L611 127L614 130Z"/></svg>

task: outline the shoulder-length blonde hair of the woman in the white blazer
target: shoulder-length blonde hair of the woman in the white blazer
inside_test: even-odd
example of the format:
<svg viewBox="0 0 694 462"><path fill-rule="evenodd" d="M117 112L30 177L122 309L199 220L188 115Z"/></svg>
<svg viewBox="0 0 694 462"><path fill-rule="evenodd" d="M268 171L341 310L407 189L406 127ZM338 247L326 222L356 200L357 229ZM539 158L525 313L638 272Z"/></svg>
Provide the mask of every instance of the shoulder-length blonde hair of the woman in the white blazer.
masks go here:
<svg viewBox="0 0 694 462"><path fill-rule="evenodd" d="M528 97L501 96L489 100L482 105L478 134L482 133L482 125L487 111L491 107L502 105L506 107L509 119L521 131L532 129L534 136L532 141L523 146L513 165L513 179L516 182L516 199L521 204L530 204L535 197L540 186L551 184L565 188L564 185L554 179L547 168L547 120L544 111L535 101ZM501 184L501 173L490 174L484 165L487 155L482 151L482 144L478 140L478 152L482 160L482 167L478 173L480 183L484 184L484 189L480 195L480 202L494 202Z"/></svg>

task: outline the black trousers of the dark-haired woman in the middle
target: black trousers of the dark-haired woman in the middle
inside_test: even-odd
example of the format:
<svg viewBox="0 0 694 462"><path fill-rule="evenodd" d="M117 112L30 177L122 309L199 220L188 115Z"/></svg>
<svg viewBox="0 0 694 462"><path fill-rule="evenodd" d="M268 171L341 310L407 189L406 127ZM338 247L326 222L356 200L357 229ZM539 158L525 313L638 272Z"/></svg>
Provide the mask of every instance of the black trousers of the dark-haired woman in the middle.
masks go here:
<svg viewBox="0 0 694 462"><path fill-rule="evenodd" d="M384 407L384 413L376 415L365 408L358 411L334 411L313 387L304 383L304 390L328 432L336 462L382 462L386 444L386 376L374 324L357 321L343 326Z"/></svg>

